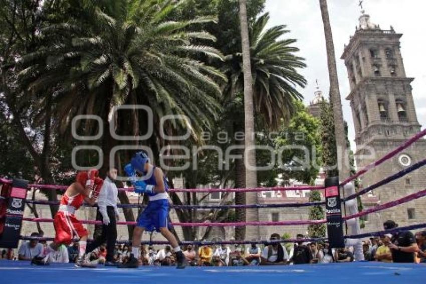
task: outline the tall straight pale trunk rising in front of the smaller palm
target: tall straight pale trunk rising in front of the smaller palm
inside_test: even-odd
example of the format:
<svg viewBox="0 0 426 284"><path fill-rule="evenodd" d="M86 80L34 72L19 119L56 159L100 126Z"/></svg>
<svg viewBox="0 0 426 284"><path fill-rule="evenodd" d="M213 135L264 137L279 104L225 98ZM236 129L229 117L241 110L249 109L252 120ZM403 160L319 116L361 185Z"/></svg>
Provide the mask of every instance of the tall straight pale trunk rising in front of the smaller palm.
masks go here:
<svg viewBox="0 0 426 284"><path fill-rule="evenodd" d="M254 106L253 106L253 78L250 57L249 27L247 21L247 1L240 0L240 26L241 42L243 52L243 72L244 72L244 116L245 116L245 155L246 166L246 187L257 186L256 151L255 151L255 127L254 127ZM246 202L249 204L258 203L257 193L247 193ZM247 209L246 220L259 221L258 209ZM259 227L249 227L247 237L259 238Z"/></svg>

